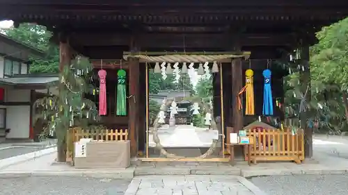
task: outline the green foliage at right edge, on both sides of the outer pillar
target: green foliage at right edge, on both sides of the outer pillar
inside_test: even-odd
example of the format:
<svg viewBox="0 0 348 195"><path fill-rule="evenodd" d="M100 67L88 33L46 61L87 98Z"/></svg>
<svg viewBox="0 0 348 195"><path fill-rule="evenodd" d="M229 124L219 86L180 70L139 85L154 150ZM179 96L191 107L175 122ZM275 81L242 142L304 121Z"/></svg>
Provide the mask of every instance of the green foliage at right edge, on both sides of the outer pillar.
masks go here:
<svg viewBox="0 0 348 195"><path fill-rule="evenodd" d="M319 128L339 132L345 130L348 122L348 18L322 28L317 39L319 42L310 48L311 99L303 106L310 113L308 121L317 122ZM284 79L285 105L298 116L303 101L301 76L297 72Z"/></svg>

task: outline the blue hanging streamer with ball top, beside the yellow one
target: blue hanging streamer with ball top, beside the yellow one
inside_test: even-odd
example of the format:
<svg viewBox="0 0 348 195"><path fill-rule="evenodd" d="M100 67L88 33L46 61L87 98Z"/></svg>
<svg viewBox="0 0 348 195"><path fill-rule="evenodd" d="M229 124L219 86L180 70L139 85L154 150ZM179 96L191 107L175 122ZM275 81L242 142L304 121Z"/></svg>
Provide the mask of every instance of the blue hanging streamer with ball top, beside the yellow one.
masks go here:
<svg viewBox="0 0 348 195"><path fill-rule="evenodd" d="M271 91L271 71L265 69L262 72L264 76L264 90L263 90L263 108L262 115L273 115L273 99Z"/></svg>

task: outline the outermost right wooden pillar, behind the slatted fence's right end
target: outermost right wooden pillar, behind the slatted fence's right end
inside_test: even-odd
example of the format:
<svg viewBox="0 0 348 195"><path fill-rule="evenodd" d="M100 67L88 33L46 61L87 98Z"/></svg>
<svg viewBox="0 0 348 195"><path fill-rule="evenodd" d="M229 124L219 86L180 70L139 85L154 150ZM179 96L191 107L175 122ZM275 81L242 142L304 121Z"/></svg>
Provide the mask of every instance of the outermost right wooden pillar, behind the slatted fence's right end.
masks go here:
<svg viewBox="0 0 348 195"><path fill-rule="evenodd" d="M304 71L300 71L300 83L301 93L305 96L306 102L310 101L310 65L309 65L309 45L304 44L301 47L301 65L304 67ZM307 91L307 92L306 92ZM308 110L304 110L300 113L301 128L304 130L305 139L305 157L313 157L313 132L311 128L308 128L307 119L310 113Z"/></svg>

